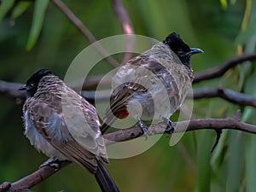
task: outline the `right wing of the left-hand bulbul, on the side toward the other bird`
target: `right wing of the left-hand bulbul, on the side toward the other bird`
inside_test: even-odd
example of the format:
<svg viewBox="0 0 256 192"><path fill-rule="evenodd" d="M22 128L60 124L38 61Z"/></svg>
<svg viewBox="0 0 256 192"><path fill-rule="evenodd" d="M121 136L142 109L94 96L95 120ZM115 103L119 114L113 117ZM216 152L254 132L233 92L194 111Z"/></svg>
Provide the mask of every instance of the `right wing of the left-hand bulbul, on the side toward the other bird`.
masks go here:
<svg viewBox="0 0 256 192"><path fill-rule="evenodd" d="M83 148L101 156L108 163L96 108L70 88L66 87L65 90L61 96L61 108L65 114L67 129Z"/></svg>

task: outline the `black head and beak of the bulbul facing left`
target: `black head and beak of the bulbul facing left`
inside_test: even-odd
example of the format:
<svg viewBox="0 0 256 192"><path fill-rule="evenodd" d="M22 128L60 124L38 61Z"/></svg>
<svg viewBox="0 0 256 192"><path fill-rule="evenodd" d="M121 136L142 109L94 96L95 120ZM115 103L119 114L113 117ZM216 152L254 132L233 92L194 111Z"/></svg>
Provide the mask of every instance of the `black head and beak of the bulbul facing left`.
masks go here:
<svg viewBox="0 0 256 192"><path fill-rule="evenodd" d="M27 96L34 96L38 90L39 81L44 78L44 76L52 74L48 69L39 69L36 73L32 75L30 79L26 81L19 90L26 90Z"/></svg>

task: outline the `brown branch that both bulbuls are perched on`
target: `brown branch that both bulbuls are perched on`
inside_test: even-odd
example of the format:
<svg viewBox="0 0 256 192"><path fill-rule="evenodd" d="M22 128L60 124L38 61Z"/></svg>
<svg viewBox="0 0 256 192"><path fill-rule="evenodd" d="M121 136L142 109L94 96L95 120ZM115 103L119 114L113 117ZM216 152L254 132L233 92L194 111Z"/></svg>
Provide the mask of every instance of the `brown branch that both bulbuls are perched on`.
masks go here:
<svg viewBox="0 0 256 192"><path fill-rule="evenodd" d="M179 125L174 133L196 130L214 130L220 132L224 129L228 129L256 134L256 125L243 123L240 121L240 119L241 112L238 110L234 117L227 119L191 119L189 121L181 121L178 122ZM177 123L174 123L174 125L177 125ZM188 127L186 125L188 125ZM163 134L166 130L166 123L150 125L149 129L150 132L148 132L148 135ZM128 141L133 138L140 137L142 134L143 132L140 127L133 127L130 129L108 133L103 137L106 139L106 144L108 145L116 142ZM67 166L69 163L69 161L61 161L60 169ZM55 171L54 167L44 166L39 168L38 171L21 178L15 183L12 183L11 187L10 183L2 183L0 185L0 192L15 192L17 189L30 189L32 186L44 181L47 177L53 175L55 172L57 171Z"/></svg>

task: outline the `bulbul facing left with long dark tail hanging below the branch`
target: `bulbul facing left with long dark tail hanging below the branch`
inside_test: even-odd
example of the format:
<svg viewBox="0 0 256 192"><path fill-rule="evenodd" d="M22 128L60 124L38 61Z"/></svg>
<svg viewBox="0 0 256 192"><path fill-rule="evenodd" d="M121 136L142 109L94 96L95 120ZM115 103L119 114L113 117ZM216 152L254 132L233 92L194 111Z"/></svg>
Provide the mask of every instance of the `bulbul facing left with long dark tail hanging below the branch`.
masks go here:
<svg viewBox="0 0 256 192"><path fill-rule="evenodd" d="M118 192L103 163L109 160L96 108L47 69L20 90L27 93L23 120L30 143L52 160L71 160L94 174L103 192Z"/></svg>

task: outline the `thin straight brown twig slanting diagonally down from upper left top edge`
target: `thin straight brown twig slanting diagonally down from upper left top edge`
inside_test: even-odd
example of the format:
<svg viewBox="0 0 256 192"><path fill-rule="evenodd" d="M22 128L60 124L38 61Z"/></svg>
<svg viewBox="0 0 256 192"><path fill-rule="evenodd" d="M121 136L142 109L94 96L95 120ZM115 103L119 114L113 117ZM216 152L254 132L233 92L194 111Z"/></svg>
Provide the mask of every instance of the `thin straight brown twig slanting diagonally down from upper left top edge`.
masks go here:
<svg viewBox="0 0 256 192"><path fill-rule="evenodd" d="M90 30L86 26L84 26L84 23L81 20L79 20L79 18L76 15L73 14L73 12L67 7L65 3L63 3L61 0L52 0L52 2L55 3L55 6L59 8L64 15L67 16L67 19L70 20L73 23L73 25L76 26L79 29L79 31L84 34L86 38L88 38L90 43L95 43L93 45L96 47L97 51L99 51L99 53L103 55L104 58L111 65L113 65L113 67L119 67L119 62L115 61L112 56L108 56L108 52L102 48L101 44L97 43L96 38L90 32Z"/></svg>

